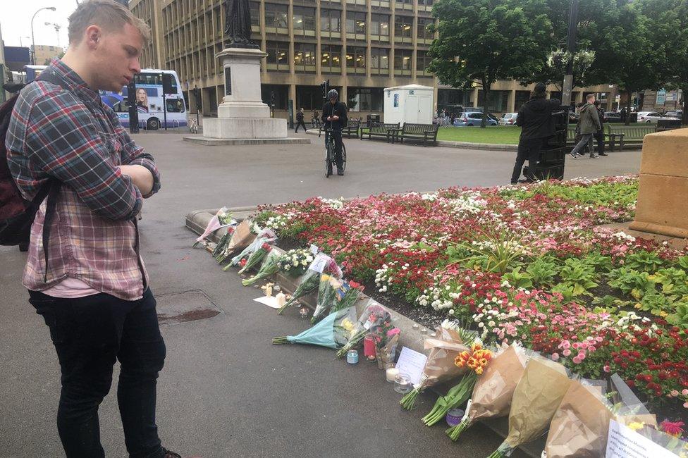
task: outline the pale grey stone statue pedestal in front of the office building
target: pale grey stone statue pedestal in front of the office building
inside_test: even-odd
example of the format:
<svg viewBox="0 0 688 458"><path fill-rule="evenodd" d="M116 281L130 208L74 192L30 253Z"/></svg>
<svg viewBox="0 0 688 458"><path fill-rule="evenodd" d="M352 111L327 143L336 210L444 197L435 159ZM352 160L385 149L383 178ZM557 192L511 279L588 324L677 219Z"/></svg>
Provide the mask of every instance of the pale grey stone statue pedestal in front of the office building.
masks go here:
<svg viewBox="0 0 688 458"><path fill-rule="evenodd" d="M270 117L260 92L260 49L231 47L216 57L224 69L225 95L217 118L203 120L203 136L218 139L285 139L287 121Z"/></svg>

